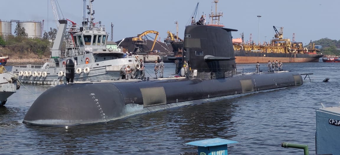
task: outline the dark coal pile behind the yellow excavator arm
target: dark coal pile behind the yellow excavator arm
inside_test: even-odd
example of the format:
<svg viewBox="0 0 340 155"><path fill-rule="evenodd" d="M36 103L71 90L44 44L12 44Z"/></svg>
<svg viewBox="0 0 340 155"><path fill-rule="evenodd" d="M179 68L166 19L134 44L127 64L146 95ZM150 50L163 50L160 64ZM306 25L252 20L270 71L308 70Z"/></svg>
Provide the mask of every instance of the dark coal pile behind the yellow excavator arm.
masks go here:
<svg viewBox="0 0 340 155"><path fill-rule="evenodd" d="M135 45L132 44L133 37L129 37L129 38L125 38L124 41L122 43L120 43L122 40L116 41L117 44L119 44L119 46L128 49L129 52L133 52L133 49L135 48ZM145 52L148 52L151 50L152 48L152 44L153 44L153 40L146 40L147 44L142 45L142 50ZM166 44L166 43L162 43L157 41L155 43L155 46L153 47L153 50L159 50L160 53L164 53L164 54L171 54L172 52L172 47L170 44Z"/></svg>

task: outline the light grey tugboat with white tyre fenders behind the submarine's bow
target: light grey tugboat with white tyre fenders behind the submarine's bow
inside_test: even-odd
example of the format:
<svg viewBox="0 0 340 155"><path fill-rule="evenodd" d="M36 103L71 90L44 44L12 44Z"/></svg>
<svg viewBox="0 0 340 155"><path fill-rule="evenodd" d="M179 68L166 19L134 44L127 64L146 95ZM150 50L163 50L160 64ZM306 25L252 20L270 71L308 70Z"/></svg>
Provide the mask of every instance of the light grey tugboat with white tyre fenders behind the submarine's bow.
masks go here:
<svg viewBox="0 0 340 155"><path fill-rule="evenodd" d="M62 51L67 20L60 20L60 26L52 47L52 55L44 65L13 66L12 72L21 82L59 85L66 82L65 65L67 59L75 63L75 82L120 79L120 68L130 65L140 73L137 57L126 57L121 49L107 49L108 34L101 22L94 21L95 11L92 2L87 5L89 17L78 25L70 20L68 27L71 40L66 40L66 51Z"/></svg>

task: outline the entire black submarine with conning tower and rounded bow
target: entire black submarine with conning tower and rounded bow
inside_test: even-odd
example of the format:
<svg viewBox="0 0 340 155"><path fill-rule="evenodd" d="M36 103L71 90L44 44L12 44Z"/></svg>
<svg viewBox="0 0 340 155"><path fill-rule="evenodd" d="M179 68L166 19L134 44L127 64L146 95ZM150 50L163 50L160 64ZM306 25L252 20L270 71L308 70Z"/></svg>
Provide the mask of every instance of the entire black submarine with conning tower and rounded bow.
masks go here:
<svg viewBox="0 0 340 155"><path fill-rule="evenodd" d="M22 123L52 127L107 123L229 95L303 84L301 74L293 71L238 74L232 31L237 30L186 26L182 61L188 62L187 77L74 83L74 63L69 59L67 83L42 93Z"/></svg>

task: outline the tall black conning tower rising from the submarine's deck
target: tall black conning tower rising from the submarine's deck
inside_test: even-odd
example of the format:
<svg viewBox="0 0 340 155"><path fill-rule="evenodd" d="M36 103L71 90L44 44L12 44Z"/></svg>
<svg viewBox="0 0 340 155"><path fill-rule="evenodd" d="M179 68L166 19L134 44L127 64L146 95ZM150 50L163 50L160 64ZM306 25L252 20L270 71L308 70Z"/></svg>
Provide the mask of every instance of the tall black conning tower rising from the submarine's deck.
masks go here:
<svg viewBox="0 0 340 155"><path fill-rule="evenodd" d="M189 78L202 79L200 75L212 75L220 79L236 74L232 31L217 26L190 25L185 28L183 58L189 65ZM183 62L182 62L183 63ZM210 79L204 78L203 79Z"/></svg>

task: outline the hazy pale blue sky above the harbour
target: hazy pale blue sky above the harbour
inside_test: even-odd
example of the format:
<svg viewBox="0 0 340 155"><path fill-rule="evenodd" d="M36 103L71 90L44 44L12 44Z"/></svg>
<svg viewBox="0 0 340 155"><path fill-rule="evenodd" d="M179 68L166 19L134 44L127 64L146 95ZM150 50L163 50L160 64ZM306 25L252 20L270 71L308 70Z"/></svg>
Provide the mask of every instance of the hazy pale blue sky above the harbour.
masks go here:
<svg viewBox="0 0 340 155"><path fill-rule="evenodd" d="M64 18L75 23L83 19L83 0L55 0ZM111 40L111 22L113 41L125 37L135 37L146 30L159 32L160 40L167 37L170 30L184 38L185 26L190 24L195 7L199 2L196 21L202 14L208 18L211 8L215 10L213 0L95 0L95 21L101 21ZM87 5L88 5L87 0ZM19 4L19 5L18 5ZM257 42L269 41L274 37L273 26L283 28L283 37L304 44L321 38L339 40L339 0L219 0L217 10L223 12L220 23L227 28L238 29L232 32L233 38ZM258 18L257 16L261 17ZM44 20L44 30L56 28L50 0L1 0L1 20ZM12 31L16 23L12 23ZM149 34L155 37L154 34ZM159 39L159 37L157 39Z"/></svg>

